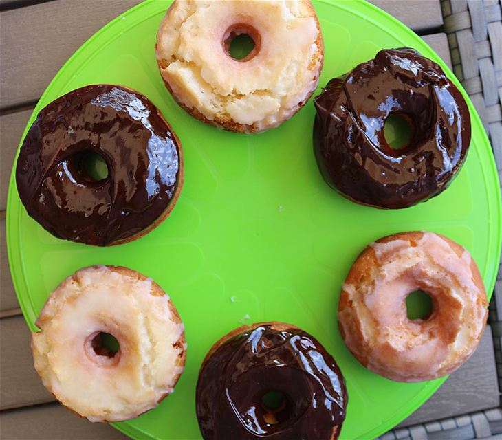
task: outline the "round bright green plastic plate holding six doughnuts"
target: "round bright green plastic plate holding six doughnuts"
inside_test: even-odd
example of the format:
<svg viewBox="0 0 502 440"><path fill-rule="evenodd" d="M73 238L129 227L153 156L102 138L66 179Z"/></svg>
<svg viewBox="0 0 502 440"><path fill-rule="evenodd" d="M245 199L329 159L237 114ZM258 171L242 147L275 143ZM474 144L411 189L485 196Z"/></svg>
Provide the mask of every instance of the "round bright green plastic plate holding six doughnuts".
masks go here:
<svg viewBox="0 0 502 440"><path fill-rule="evenodd" d="M197 122L173 102L153 50L170 3L142 3L89 39L47 87L28 126L43 106L77 87L117 83L137 89L160 108L182 141L186 172L179 202L171 217L144 238L94 248L55 239L30 219L13 174L8 251L28 326L35 330L47 296L80 267L128 266L151 276L173 298L186 325L188 358L173 395L116 428L135 439L200 439L195 384L204 355L234 327L279 320L312 333L340 364L349 388L342 439L376 437L423 404L444 379L399 384L360 366L338 333L340 286L367 243L394 232L430 230L470 250L492 292L501 202L479 118L469 104L470 152L448 190L404 210L359 206L320 177L312 151L312 100L292 120L259 135L220 131ZM314 1L314 6L326 46L320 85L384 47L402 46L435 59L453 78L422 39L373 5Z"/></svg>

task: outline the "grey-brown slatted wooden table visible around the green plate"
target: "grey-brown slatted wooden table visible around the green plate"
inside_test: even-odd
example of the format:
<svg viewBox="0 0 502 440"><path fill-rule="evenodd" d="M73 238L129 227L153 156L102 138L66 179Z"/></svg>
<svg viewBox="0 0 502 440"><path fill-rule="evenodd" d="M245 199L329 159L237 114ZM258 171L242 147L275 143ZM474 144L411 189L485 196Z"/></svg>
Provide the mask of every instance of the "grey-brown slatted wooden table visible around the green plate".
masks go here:
<svg viewBox="0 0 502 440"><path fill-rule="evenodd" d="M30 332L10 279L5 222L8 179L22 131L45 87L96 30L138 0L0 0L0 437L2 439L124 439L59 406L32 366ZM451 65L439 0L372 0L415 30ZM477 352L401 426L499 405L492 333ZM439 438L439 437L438 437Z"/></svg>

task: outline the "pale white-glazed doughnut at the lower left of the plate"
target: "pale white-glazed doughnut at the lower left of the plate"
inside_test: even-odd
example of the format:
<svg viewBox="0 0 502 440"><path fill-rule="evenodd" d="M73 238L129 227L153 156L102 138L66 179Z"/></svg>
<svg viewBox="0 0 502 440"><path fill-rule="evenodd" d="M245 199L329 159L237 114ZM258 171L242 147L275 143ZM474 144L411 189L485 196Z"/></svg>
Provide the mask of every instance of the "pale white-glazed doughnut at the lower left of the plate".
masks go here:
<svg viewBox="0 0 502 440"><path fill-rule="evenodd" d="M182 374L184 327L151 278L92 266L63 281L32 333L34 366L64 406L90 421L123 421L154 408ZM104 344L116 338L118 351Z"/></svg>

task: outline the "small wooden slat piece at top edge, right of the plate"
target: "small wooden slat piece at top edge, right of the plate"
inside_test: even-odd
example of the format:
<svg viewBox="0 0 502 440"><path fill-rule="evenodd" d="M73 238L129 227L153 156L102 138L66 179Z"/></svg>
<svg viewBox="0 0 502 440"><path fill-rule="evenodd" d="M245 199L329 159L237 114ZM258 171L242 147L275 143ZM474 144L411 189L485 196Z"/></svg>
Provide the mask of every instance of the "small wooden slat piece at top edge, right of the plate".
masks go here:
<svg viewBox="0 0 502 440"><path fill-rule="evenodd" d="M435 30L443 24L439 0L369 0L415 32Z"/></svg>

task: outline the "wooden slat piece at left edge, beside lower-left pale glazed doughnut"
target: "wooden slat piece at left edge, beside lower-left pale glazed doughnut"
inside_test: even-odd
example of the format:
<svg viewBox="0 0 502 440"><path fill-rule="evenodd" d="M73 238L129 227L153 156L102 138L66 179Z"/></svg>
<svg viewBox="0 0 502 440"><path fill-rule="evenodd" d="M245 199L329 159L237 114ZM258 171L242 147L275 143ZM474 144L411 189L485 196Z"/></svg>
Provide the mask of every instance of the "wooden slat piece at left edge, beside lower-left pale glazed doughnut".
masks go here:
<svg viewBox="0 0 502 440"><path fill-rule="evenodd" d="M33 368L30 331L23 316L0 319L0 409L53 401Z"/></svg>

